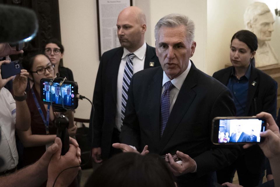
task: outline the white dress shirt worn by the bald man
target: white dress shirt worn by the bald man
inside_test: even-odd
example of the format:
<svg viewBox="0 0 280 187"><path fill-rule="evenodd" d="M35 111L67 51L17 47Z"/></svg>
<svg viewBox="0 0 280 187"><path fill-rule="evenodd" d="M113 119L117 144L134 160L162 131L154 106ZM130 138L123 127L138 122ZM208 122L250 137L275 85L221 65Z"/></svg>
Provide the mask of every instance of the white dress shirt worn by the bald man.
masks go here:
<svg viewBox="0 0 280 187"><path fill-rule="evenodd" d="M144 62L146 56L146 41L144 44L134 51L135 57L132 59L133 63L133 74L139 72L144 69ZM122 60L120 61L120 67L118 72L118 84L117 84L117 113L115 118L116 128L120 131L120 127L122 126L121 112L122 112L122 80L123 73L125 71L125 63L127 61L127 55L130 52L127 49L123 49Z"/></svg>

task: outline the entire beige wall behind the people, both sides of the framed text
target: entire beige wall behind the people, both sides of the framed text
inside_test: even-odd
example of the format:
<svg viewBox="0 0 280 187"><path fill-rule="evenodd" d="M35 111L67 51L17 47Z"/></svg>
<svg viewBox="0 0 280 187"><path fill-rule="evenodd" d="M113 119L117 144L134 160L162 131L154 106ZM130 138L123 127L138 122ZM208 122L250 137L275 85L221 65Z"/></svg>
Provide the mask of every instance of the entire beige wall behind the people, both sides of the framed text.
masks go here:
<svg viewBox="0 0 280 187"><path fill-rule="evenodd" d="M273 11L276 0L267 0ZM253 0L133 0L147 16L146 41L155 46L153 29L156 22L169 13L182 13L194 20L197 47L191 60L205 73L222 69L229 61L232 35L244 28L243 13ZM280 2L279 2L280 5ZM65 47L64 65L74 73L79 93L92 99L99 65L96 1L59 0L62 44ZM280 18L274 17L271 42L280 56ZM79 101L76 117L89 118L90 103Z"/></svg>

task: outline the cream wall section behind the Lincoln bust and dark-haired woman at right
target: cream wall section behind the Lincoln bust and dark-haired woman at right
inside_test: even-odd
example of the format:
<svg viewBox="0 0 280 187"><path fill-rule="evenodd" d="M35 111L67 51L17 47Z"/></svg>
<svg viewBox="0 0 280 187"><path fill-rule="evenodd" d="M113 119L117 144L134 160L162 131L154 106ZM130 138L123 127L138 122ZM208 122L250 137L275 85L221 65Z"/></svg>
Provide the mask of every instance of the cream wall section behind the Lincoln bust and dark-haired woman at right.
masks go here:
<svg viewBox="0 0 280 187"><path fill-rule="evenodd" d="M230 64L230 40L233 34L245 29L243 14L253 0L208 0L207 1L207 50L205 72L209 75ZM280 57L280 18L274 9L277 0L259 0L269 6L274 15L274 32L270 44ZM279 2L280 5L280 2Z"/></svg>

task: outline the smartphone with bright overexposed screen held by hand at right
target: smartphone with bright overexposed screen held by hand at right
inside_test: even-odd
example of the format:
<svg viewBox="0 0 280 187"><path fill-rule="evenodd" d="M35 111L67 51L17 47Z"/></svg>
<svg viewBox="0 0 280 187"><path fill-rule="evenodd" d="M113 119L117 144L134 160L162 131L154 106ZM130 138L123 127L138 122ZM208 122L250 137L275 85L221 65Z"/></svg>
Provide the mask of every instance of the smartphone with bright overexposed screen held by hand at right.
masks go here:
<svg viewBox="0 0 280 187"><path fill-rule="evenodd" d="M266 130L266 120L257 117L215 117L211 141L214 144L260 143L260 132Z"/></svg>

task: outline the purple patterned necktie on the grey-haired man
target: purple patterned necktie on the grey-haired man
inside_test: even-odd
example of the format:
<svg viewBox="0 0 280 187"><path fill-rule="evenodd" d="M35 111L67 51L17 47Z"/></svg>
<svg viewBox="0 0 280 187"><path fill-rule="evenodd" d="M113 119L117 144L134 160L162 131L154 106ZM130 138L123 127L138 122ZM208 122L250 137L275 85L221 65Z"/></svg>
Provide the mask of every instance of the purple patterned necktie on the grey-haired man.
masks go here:
<svg viewBox="0 0 280 187"><path fill-rule="evenodd" d="M169 117L169 100L170 100L170 90L174 88L171 81L166 82L165 90L161 96L160 103L160 137L162 137L163 131L165 129L168 117Z"/></svg>

